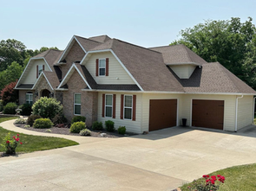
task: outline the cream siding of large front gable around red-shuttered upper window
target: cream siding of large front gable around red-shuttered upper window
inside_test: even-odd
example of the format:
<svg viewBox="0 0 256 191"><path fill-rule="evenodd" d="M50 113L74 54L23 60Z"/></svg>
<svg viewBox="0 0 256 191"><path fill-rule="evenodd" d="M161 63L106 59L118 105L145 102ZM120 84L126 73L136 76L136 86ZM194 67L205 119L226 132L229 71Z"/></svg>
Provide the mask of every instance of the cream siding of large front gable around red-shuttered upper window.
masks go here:
<svg viewBox="0 0 256 191"><path fill-rule="evenodd" d="M95 76L95 60L105 58L109 59L108 76ZM110 52L92 54L85 63L85 67L98 84L135 84L135 81Z"/></svg>

